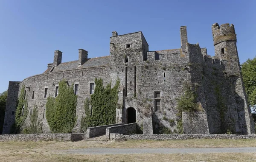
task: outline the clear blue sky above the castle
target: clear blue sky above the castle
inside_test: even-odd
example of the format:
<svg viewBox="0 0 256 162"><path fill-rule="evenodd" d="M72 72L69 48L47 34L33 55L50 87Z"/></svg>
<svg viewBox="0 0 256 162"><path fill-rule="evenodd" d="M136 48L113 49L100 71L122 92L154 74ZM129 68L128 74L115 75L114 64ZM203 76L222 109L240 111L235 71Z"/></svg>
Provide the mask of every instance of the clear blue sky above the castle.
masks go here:
<svg viewBox="0 0 256 162"><path fill-rule="evenodd" d="M189 43L214 56L211 25L232 23L240 63L256 56L256 0L0 0L0 92L9 81L43 73L61 50L62 62L109 55L112 31L142 31L149 50Z"/></svg>

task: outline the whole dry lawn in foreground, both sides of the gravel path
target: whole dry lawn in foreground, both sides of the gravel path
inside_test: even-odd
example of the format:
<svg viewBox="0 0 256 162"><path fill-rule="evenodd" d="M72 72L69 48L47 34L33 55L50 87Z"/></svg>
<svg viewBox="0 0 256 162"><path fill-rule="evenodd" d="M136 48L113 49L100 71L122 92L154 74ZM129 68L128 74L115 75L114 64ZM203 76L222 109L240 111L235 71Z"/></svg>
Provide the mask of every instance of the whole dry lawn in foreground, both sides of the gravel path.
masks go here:
<svg viewBox="0 0 256 162"><path fill-rule="evenodd" d="M256 161L255 153L215 154L126 154L78 155L67 154L65 149L77 148L226 148L255 147L256 140L131 140L122 142L0 142L0 161Z"/></svg>

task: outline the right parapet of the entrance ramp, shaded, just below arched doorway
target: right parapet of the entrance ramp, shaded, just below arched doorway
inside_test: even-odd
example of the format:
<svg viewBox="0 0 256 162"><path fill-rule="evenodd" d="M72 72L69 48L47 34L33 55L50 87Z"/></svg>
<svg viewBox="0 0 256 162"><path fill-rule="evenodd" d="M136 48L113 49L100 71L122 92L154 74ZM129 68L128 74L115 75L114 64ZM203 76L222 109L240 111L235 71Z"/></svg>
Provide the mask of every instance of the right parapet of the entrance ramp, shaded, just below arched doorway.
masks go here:
<svg viewBox="0 0 256 162"><path fill-rule="evenodd" d="M123 124L120 126L111 126L106 128L106 136L110 139L110 134L134 134L137 133L137 123Z"/></svg>

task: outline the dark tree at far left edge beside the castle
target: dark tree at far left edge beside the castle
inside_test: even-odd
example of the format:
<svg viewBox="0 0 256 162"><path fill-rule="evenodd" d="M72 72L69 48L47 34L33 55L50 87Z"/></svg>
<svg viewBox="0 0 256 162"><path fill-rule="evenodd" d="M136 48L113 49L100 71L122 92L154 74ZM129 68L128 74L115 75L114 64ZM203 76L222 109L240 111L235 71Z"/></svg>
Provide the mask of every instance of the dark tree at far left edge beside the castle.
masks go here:
<svg viewBox="0 0 256 162"><path fill-rule="evenodd" d="M3 121L6 109L6 100L7 100L8 90L0 93L0 134L3 132Z"/></svg>

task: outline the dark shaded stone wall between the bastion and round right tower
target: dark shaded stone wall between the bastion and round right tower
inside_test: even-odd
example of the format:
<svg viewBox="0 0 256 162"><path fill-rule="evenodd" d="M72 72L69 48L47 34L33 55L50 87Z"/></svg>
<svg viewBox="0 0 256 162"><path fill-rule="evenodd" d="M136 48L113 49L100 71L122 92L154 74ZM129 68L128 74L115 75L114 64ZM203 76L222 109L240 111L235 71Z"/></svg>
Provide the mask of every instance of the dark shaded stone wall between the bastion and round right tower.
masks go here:
<svg viewBox="0 0 256 162"><path fill-rule="evenodd" d="M202 75L209 133L250 134L245 120L245 101L238 94L244 93L241 78L227 73L221 60L203 57L203 71L196 73ZM192 84L196 83L197 78L192 78Z"/></svg>

